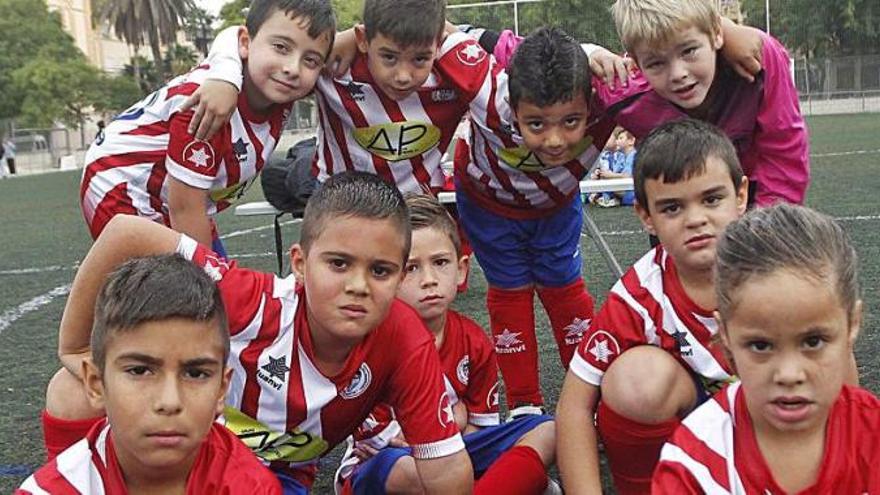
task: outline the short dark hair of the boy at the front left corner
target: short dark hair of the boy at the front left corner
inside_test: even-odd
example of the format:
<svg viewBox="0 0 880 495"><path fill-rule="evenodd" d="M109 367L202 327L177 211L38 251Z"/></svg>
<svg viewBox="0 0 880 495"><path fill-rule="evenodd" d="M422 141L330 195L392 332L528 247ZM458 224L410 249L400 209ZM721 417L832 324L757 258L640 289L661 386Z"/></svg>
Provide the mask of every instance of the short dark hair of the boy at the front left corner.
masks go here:
<svg viewBox="0 0 880 495"><path fill-rule="evenodd" d="M115 334L169 318L215 322L226 362L229 327L220 290L200 267L165 254L129 260L101 286L90 343L95 366L104 371L107 344Z"/></svg>

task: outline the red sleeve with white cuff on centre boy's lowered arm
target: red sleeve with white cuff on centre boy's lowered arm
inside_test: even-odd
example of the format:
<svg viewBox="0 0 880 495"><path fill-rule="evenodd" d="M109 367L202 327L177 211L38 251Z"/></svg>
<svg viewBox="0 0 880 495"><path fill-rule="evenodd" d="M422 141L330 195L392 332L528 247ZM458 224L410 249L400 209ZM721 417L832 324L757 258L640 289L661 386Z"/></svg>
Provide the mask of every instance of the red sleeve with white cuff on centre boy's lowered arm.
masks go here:
<svg viewBox="0 0 880 495"><path fill-rule="evenodd" d="M464 442L443 383L440 357L414 312L405 314L400 324L404 327L397 332L399 342L395 346L400 359L387 384L388 404L394 408L413 457L452 455L464 449Z"/></svg>

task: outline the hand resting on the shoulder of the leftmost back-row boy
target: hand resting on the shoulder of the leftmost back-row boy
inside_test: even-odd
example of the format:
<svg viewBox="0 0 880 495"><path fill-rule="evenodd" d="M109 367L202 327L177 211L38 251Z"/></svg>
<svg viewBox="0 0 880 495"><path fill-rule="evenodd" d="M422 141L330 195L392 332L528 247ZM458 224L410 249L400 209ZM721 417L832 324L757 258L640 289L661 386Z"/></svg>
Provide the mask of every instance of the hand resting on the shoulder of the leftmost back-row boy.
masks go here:
<svg viewBox="0 0 880 495"><path fill-rule="evenodd" d="M187 132L206 141L229 122L237 104L238 89L235 86L219 79L207 79L183 102L180 111L196 107Z"/></svg>

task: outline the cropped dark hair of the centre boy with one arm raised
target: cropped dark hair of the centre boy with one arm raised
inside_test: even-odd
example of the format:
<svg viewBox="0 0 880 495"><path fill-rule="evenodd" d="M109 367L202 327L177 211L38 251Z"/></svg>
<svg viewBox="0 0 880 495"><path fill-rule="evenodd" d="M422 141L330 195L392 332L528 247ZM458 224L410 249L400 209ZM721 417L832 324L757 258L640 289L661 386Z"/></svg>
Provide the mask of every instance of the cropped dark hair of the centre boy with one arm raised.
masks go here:
<svg viewBox="0 0 880 495"><path fill-rule="evenodd" d="M348 171L331 176L306 203L299 241L303 251L308 253L327 224L339 217L390 220L403 237L403 260L409 257L409 210L394 184L367 172Z"/></svg>

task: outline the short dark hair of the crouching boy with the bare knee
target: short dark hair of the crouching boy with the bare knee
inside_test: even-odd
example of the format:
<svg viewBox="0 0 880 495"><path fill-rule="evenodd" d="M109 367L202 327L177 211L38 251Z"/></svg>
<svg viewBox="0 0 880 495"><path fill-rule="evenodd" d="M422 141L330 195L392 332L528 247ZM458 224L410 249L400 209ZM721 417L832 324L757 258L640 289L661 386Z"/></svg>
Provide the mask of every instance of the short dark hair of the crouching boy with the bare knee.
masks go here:
<svg viewBox="0 0 880 495"><path fill-rule="evenodd" d="M727 165L733 187L739 189L743 180L742 167L730 139L712 124L696 119L667 122L639 143L633 165L633 183L636 200L648 208L645 182L659 179L676 183L701 174L706 170L706 160L713 156Z"/></svg>

